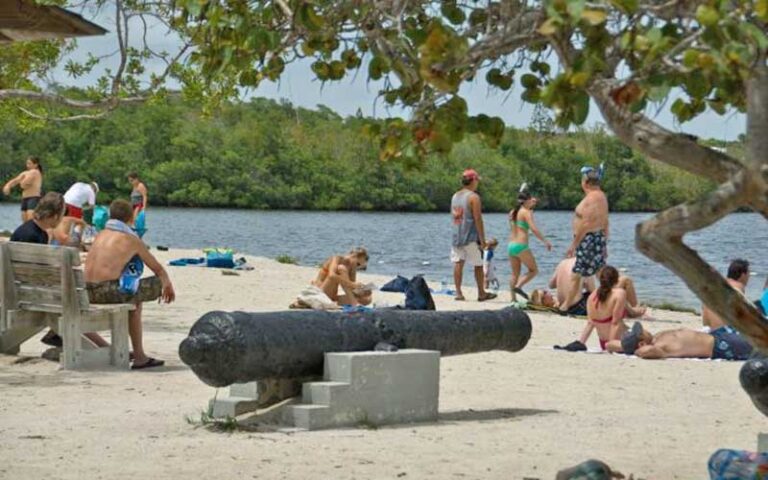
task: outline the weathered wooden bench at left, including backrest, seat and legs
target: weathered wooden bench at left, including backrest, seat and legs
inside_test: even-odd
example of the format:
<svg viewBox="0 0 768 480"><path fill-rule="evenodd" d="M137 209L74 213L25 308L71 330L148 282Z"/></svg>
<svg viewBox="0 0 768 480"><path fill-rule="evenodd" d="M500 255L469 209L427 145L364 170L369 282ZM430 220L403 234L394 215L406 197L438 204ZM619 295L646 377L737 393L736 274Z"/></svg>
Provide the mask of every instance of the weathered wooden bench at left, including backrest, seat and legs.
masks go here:
<svg viewBox="0 0 768 480"><path fill-rule="evenodd" d="M112 365L128 368L128 312L134 305L91 305L80 255L74 248L0 244L0 352L19 346L46 327L63 339L62 368ZM109 330L110 347L83 336Z"/></svg>

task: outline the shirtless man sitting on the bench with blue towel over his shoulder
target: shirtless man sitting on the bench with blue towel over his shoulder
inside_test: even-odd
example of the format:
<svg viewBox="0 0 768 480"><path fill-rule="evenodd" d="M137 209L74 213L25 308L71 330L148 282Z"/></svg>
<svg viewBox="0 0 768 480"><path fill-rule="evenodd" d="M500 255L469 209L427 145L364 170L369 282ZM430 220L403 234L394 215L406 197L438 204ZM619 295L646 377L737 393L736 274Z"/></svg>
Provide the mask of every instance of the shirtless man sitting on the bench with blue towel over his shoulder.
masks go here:
<svg viewBox="0 0 768 480"><path fill-rule="evenodd" d="M133 347L132 369L160 367L165 364L144 352L141 302L160 298L166 303L176 298L171 279L160 262L149 253L128 225L133 221L133 208L125 200L109 206L110 220L93 242L85 262L85 280L91 303L135 303L128 316L128 333ZM143 262L143 263L142 263ZM143 264L156 277L138 279Z"/></svg>

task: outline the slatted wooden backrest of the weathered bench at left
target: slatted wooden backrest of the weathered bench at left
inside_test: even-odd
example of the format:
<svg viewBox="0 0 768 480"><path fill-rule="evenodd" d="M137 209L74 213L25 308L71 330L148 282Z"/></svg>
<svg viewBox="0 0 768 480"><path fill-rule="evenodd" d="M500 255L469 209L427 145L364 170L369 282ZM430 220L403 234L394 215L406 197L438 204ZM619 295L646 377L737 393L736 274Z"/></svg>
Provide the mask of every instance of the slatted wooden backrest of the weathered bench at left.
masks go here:
<svg viewBox="0 0 768 480"><path fill-rule="evenodd" d="M77 314L90 306L74 248L6 242L0 245L0 267L3 314L8 310Z"/></svg>

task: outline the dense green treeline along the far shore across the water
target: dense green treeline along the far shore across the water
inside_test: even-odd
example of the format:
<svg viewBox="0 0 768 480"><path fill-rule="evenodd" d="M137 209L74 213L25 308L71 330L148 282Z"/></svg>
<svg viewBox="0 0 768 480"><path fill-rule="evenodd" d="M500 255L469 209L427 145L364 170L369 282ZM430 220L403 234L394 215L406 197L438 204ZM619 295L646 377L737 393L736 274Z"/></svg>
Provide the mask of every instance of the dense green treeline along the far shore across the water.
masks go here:
<svg viewBox="0 0 768 480"><path fill-rule="evenodd" d="M465 108L458 100L444 104L434 113L435 125ZM447 211L468 167L484 177L486 211L509 210L523 181L543 208L573 208L581 197L579 168L600 161L607 164L605 187L614 210L657 210L709 188L646 161L599 130L555 135L502 126L499 148L466 136L450 153L408 163L381 161L380 145L364 134L386 128L383 121L342 118L327 107L307 110L285 101L232 104L216 118L181 102L153 102L101 120L32 131L10 120L0 123L0 174L11 178L27 155L37 155L48 191L95 180L101 202L125 198L131 189L125 175L137 171L151 205L261 209ZM463 132L440 128L451 136ZM468 122L466 130L473 128Z"/></svg>

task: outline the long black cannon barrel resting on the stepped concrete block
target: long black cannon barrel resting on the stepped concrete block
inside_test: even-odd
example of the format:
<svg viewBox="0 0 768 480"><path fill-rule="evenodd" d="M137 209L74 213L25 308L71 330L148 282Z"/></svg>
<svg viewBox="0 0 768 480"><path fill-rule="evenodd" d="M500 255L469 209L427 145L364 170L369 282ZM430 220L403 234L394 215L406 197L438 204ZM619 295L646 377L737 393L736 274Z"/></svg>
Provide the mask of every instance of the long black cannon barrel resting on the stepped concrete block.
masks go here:
<svg viewBox="0 0 768 480"><path fill-rule="evenodd" d="M511 307L454 312L214 311L195 322L179 346L179 356L200 380L224 387L321 375L324 353L373 350L380 342L459 355L516 352L530 337L528 315Z"/></svg>

